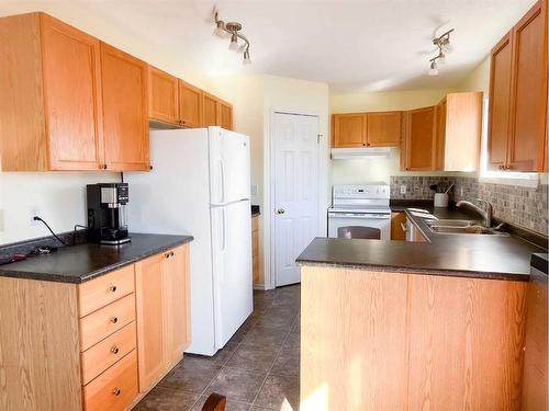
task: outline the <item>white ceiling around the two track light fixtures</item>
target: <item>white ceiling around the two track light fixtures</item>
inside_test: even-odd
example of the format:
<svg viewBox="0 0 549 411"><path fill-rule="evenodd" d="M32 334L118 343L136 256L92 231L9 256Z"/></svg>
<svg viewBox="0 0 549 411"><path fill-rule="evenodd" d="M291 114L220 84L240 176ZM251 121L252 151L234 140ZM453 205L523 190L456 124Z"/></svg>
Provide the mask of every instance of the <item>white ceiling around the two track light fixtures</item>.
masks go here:
<svg viewBox="0 0 549 411"><path fill-rule="evenodd" d="M121 31L208 75L261 73L329 83L335 93L451 88L535 0L219 0L238 21L253 65L212 36L213 2L80 0ZM433 33L456 28L438 77L428 77ZM429 54L429 52L432 52Z"/></svg>

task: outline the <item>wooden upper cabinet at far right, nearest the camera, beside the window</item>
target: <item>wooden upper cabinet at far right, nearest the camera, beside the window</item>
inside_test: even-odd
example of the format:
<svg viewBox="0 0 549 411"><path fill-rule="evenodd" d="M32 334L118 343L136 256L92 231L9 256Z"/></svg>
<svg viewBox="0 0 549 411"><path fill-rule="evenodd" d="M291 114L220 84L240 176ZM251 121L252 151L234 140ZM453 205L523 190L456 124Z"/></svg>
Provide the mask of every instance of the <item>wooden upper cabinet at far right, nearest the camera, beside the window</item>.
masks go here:
<svg viewBox="0 0 549 411"><path fill-rule="evenodd" d="M489 168L541 171L547 127L547 23L538 1L492 49Z"/></svg>

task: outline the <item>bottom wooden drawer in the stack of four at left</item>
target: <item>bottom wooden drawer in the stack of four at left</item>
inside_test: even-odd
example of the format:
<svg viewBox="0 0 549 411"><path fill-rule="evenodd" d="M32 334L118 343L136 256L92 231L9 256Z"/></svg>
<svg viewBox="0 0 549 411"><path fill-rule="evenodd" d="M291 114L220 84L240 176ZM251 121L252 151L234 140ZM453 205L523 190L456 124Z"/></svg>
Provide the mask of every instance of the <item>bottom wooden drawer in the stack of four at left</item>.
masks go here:
<svg viewBox="0 0 549 411"><path fill-rule="evenodd" d="M137 355L124 358L83 387L86 411L123 411L137 397Z"/></svg>

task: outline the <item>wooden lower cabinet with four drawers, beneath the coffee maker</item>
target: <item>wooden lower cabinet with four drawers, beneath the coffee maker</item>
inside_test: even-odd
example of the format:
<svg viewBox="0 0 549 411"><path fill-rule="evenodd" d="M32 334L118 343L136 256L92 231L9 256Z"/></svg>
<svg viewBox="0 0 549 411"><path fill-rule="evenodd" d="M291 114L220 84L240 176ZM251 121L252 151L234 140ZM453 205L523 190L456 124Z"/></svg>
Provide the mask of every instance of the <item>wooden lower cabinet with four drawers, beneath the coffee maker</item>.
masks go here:
<svg viewBox="0 0 549 411"><path fill-rule="evenodd" d="M190 344L189 293L189 244L82 284L0 277L2 410L130 409Z"/></svg>

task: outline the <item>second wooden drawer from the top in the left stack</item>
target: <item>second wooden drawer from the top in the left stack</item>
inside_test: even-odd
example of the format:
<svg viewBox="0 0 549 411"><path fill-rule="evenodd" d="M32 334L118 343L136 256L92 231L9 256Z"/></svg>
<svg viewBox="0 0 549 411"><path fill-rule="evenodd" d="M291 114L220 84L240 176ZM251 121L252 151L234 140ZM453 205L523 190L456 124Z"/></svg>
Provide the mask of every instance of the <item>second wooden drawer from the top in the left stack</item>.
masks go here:
<svg viewBox="0 0 549 411"><path fill-rule="evenodd" d="M135 320L135 294L130 294L80 319L80 350L111 335Z"/></svg>

